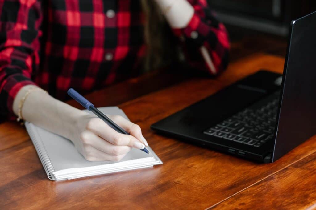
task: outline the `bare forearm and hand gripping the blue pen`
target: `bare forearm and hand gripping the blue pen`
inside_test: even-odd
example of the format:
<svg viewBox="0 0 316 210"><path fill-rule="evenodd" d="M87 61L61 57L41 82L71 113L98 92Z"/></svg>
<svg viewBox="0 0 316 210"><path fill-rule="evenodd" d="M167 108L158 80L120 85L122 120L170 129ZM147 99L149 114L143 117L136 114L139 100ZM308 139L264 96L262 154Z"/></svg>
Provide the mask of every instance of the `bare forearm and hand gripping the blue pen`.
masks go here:
<svg viewBox="0 0 316 210"><path fill-rule="evenodd" d="M19 102L30 88L26 85L15 96L13 110L18 113ZM23 118L48 131L70 139L76 149L90 161L121 160L132 147L143 149L147 142L140 127L121 116L108 116L131 135L116 132L104 121L61 102L43 91L33 91L27 96Z"/></svg>

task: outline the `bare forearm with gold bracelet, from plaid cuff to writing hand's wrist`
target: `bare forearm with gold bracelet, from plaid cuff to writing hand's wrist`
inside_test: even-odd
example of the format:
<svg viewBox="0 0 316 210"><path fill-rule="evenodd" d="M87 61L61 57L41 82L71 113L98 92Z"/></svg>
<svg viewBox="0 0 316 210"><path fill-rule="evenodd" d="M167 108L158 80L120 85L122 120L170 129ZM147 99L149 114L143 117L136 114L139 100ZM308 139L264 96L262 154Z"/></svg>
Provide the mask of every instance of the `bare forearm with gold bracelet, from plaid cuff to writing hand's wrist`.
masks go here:
<svg viewBox="0 0 316 210"><path fill-rule="evenodd" d="M18 115L19 103L28 89L36 87L26 85L15 96L13 111ZM64 102L61 102L43 91L34 90L25 99L22 106L24 120L73 140L76 119L85 113Z"/></svg>

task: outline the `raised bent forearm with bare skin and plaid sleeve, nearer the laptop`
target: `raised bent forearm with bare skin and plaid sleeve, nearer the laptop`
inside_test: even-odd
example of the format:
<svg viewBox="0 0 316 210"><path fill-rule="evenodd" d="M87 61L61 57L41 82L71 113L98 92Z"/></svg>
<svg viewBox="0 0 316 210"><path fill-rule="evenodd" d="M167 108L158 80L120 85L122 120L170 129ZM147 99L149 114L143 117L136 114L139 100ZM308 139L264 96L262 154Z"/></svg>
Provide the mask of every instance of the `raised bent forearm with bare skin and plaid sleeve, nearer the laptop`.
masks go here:
<svg viewBox="0 0 316 210"><path fill-rule="evenodd" d="M204 0L155 0L174 34L180 38L185 59L195 69L216 75L228 63L229 40ZM201 56L196 56L200 54ZM202 58L202 59L201 59Z"/></svg>

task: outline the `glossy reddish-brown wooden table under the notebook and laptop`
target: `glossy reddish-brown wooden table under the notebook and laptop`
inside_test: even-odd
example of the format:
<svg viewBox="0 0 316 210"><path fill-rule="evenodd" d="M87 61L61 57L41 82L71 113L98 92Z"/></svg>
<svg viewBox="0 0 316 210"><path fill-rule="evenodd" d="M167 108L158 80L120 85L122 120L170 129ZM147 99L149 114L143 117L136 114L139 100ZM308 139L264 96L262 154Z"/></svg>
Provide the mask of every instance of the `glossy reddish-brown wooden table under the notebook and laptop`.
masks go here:
<svg viewBox="0 0 316 210"><path fill-rule="evenodd" d="M281 57L257 54L231 63L215 79L152 73L88 94L96 106L129 100L119 107L142 127L164 162L149 169L50 181L25 129L14 122L0 124L0 209L315 208L315 138L275 163L258 164L163 137L149 128L258 69L281 73L283 62ZM170 86L174 80L177 84ZM130 100L136 96L140 97Z"/></svg>

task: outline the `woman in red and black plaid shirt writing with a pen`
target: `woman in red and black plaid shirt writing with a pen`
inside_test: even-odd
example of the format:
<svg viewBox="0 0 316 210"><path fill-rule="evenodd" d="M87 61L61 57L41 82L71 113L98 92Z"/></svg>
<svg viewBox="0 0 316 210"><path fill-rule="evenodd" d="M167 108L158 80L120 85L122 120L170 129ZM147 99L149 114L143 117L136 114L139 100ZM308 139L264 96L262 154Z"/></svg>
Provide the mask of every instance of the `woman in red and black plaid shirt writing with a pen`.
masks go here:
<svg viewBox="0 0 316 210"><path fill-rule="evenodd" d="M227 65L227 32L206 0L46 2L0 3L0 111L70 139L87 160L148 144L120 116L110 118L131 135L59 101L70 87L86 93L174 59L213 75Z"/></svg>

